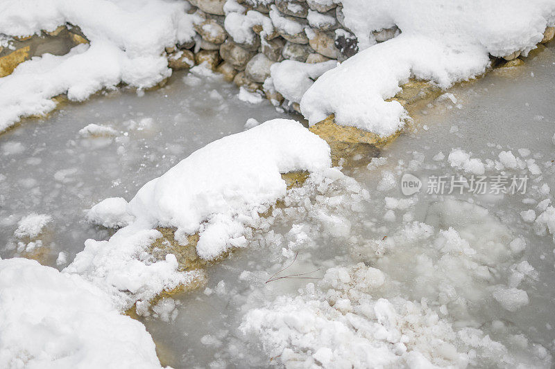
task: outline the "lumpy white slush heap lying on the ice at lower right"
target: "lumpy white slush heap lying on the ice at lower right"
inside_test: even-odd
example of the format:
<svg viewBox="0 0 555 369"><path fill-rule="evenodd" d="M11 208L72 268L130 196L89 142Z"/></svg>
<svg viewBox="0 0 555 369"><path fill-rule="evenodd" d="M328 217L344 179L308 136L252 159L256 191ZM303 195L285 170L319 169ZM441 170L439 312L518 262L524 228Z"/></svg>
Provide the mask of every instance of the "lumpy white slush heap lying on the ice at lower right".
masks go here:
<svg viewBox="0 0 555 369"><path fill-rule="evenodd" d="M438 201L426 213L425 223L353 249L364 263L328 268L298 293L251 308L240 330L286 367L549 368L545 348L524 341L524 358L513 352L518 334L506 331L502 342L468 324L475 304L515 312L529 303L516 287L537 273L513 262L523 241L465 201ZM507 285L495 285L505 270Z"/></svg>

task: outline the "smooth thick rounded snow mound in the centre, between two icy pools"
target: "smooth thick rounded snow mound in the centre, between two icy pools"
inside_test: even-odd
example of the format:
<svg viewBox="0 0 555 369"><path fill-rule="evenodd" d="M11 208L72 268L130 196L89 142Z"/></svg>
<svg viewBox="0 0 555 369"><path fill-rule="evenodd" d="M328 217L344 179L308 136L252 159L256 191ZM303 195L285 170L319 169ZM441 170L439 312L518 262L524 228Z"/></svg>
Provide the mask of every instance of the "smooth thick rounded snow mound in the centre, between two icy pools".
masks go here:
<svg viewBox="0 0 555 369"><path fill-rule="evenodd" d="M153 226L177 227L178 234L195 233L207 221L197 251L211 259L244 231L234 215L252 216L285 195L280 173L330 165L330 147L321 138L294 120L268 120L206 145L146 183L130 201L130 214Z"/></svg>

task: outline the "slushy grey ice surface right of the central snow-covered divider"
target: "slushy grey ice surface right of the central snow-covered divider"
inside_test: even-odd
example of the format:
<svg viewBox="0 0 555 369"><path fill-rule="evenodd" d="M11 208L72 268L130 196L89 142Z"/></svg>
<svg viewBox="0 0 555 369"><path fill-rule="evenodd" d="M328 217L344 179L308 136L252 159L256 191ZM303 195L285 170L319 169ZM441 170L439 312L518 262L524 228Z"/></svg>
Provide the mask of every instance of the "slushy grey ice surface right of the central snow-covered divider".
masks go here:
<svg viewBox="0 0 555 369"><path fill-rule="evenodd" d="M398 314L392 315L398 322L411 322L402 308L413 301L422 309L420 314L430 309L440 323L449 325L431 332L411 323L408 332L416 332L406 345L411 350L417 348L440 366L511 367L521 363L549 367L555 339L551 308L555 298L554 244L552 235L536 234L533 224L525 222L520 213L533 209L539 215L555 189L554 62L553 48L548 48L526 66L495 71L455 89L456 102L444 98L427 107L416 117L416 129L382 152L385 160L350 172L367 186L369 199L361 201L364 195L353 190L352 184L343 183L335 193L327 192L323 198L312 194L309 204L299 200L298 208L292 206L295 210L289 214L271 219L269 233L262 231L249 249L212 267L207 289L176 297L173 323L162 323L152 315L144 319L162 359L178 367L266 366L283 361L320 365L324 362L318 358L326 358L316 349L323 346L343 350L345 357L357 357L356 346L349 352L349 338L343 336L343 346L326 341L325 331L316 327L321 322L298 325L296 316L302 315L295 309L307 302L327 299L333 303L333 298L311 296L311 285L304 291L298 289L314 282L325 294L331 288L326 280L334 280L333 276L321 280L326 269L364 262L364 268L379 269L386 280L370 292L373 299L401 299L395 305ZM441 197L428 195L425 182L416 195L402 195L400 179L407 172L422 180L429 175L470 177L472 172L450 165L448 158L454 149L480 159L488 178L527 175L526 193L471 195L465 190L463 195ZM541 174L530 161L524 169L499 169L499 165L496 169L495 161L500 161L503 151L511 151L522 161L533 159ZM452 162L456 164L455 159ZM467 170L479 172L472 165ZM545 185L551 189L549 193ZM413 226L415 221L422 223ZM319 268L305 275L318 279L265 283L292 262L296 251L293 267L280 276ZM348 295L341 287L334 288L334 294ZM282 295L301 296L302 303L280 300ZM376 306L357 299L351 298L355 312ZM249 311L269 317L260 323ZM325 314L316 309L314 315L300 319L309 321ZM249 322L253 329L238 329ZM408 332L404 334L410 336ZM369 341L384 349L374 359L380 354L388 359L386 352L397 350L393 343L380 343L377 338ZM289 352L284 358L283 348L291 348L294 354ZM402 364L409 359L414 358L391 362ZM337 361L328 364L339 365Z"/></svg>

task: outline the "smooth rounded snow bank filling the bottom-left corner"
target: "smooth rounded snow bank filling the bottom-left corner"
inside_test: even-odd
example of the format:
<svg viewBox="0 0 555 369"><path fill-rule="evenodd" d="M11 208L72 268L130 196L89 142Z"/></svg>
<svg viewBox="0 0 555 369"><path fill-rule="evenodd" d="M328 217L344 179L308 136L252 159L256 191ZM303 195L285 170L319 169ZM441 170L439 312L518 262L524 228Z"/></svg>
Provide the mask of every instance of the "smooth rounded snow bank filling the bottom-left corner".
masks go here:
<svg viewBox="0 0 555 369"><path fill-rule="evenodd" d="M0 260L2 368L161 368L144 325L79 276Z"/></svg>

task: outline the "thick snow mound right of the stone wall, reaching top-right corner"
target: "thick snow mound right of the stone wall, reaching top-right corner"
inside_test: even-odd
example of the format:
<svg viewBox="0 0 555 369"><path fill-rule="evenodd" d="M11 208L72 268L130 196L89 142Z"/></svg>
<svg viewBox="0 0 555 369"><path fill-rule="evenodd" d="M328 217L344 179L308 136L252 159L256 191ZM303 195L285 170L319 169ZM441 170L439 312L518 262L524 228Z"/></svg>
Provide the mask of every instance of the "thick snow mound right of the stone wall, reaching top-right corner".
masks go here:
<svg viewBox="0 0 555 369"><path fill-rule="evenodd" d="M324 73L300 102L310 124L330 114L382 136L403 126L406 112L385 100L409 78L432 80L445 89L483 73L488 54L527 54L555 22L555 3L493 1L345 0L345 26L363 51ZM373 30L398 26L401 35L376 44ZM371 47L370 47L371 46ZM274 78L275 80L275 78Z"/></svg>

